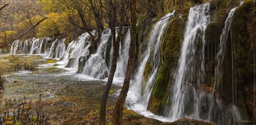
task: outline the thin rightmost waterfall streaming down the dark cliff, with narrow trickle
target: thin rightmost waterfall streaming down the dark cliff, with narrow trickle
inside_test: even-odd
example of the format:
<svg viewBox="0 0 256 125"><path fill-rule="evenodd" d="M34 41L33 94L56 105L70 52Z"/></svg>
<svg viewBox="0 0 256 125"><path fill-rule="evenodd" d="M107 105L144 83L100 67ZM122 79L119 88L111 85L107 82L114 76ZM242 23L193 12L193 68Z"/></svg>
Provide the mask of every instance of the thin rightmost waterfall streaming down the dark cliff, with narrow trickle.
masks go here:
<svg viewBox="0 0 256 125"><path fill-rule="evenodd" d="M243 4L243 1L240 2L240 5ZM230 28L231 28L231 23L232 23L232 20L233 20L233 15L235 13L235 11L237 10L238 7L235 7L233 9L230 10L229 14L228 14L228 17L226 18L226 21L225 21L225 27L223 28L222 30L222 34L220 35L220 44L219 44L219 51L217 52L217 55L216 55L216 67L215 67L215 81L214 81L214 85L213 85L213 88L214 89L219 89L219 84L220 84L220 81L222 80L222 64L223 64L223 61L225 59L225 50L226 50L226 40L228 39L228 34L229 34L229 31L230 31ZM233 44L233 43L232 43ZM232 46L232 53L233 53L233 46ZM232 58L233 58L233 55L232 55ZM233 59L232 59L232 62L233 62ZM232 64L232 68L233 68L233 64ZM234 69L233 69L234 70ZM234 72L234 71L232 71ZM234 75L234 74L233 74ZM234 78L234 76L232 75L232 77ZM233 103L234 103L234 79L232 78L232 82L233 82ZM213 106L214 106L214 93L211 94L211 102L210 102L210 111L208 113L208 121L212 121L211 120L211 116L213 115ZM238 111L238 110L235 110L235 111ZM239 112L236 112L236 114L239 114Z"/></svg>

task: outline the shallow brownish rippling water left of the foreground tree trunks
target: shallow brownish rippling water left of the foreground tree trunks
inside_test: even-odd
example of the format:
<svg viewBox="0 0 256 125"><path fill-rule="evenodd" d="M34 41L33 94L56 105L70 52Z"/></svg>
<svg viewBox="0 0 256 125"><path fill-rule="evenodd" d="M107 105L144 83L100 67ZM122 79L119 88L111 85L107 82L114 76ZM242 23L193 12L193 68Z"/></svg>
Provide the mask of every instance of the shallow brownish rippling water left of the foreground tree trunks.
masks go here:
<svg viewBox="0 0 256 125"><path fill-rule="evenodd" d="M77 124L89 111L98 110L105 82L67 73L64 69L54 71L40 66L36 72L19 71L6 75L8 83L0 93L0 101L28 97L37 107L42 98L43 111L51 124ZM116 93L110 94L107 106L113 106L119 86L113 85Z"/></svg>

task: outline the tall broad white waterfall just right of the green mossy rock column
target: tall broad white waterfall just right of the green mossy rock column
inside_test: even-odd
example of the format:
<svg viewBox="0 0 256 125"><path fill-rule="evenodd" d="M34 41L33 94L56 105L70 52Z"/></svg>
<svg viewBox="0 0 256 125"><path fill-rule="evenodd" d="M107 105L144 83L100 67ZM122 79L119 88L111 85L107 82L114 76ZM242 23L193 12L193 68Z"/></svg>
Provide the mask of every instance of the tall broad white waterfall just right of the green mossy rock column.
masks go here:
<svg viewBox="0 0 256 125"><path fill-rule="evenodd" d="M194 111L187 112L185 108L190 105L190 86L204 82L205 29L210 23L209 10L209 3L190 8L181 56L173 83L172 97L169 99L171 106L165 111L166 117L170 121L178 120L181 117L199 118L200 94L195 93L192 97L191 109Z"/></svg>

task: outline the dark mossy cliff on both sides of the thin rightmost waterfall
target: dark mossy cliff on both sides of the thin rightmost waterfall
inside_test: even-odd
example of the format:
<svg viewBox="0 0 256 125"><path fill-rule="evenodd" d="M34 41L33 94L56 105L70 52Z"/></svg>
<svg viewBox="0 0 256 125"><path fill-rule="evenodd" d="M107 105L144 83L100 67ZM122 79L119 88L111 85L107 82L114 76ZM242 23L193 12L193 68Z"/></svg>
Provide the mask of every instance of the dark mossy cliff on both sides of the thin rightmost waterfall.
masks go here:
<svg viewBox="0 0 256 125"><path fill-rule="evenodd" d="M216 20L210 23L206 31L205 70L206 84L214 84L216 54L219 50L220 34L231 8L237 7L239 1L218 1ZM255 43L255 6L254 1L245 1L234 13L231 29L225 44L225 58L222 64L222 81L219 89L223 106L227 108L234 101L239 106L243 120L254 120L255 83L254 83L254 43ZM233 89L234 87L234 89ZM233 100L234 96L234 100Z"/></svg>

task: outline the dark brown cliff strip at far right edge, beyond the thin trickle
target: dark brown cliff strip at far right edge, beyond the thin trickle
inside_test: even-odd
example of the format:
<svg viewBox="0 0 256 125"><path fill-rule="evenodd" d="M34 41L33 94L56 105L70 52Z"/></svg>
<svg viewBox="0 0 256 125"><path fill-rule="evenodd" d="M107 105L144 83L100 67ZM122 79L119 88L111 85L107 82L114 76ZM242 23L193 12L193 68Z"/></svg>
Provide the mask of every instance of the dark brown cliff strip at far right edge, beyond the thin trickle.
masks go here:
<svg viewBox="0 0 256 125"><path fill-rule="evenodd" d="M247 0L237 8L231 25L234 71L237 84L237 105L243 108L243 115L255 123L255 35L256 7L253 0Z"/></svg>

